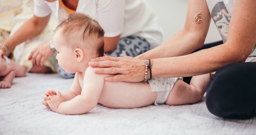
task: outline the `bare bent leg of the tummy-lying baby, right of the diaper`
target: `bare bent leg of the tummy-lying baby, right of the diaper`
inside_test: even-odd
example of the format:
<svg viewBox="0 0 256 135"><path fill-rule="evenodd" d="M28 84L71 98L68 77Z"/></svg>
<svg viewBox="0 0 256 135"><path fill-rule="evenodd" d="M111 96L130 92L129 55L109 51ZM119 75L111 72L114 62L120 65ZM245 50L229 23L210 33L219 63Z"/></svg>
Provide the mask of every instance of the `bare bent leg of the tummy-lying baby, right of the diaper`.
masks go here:
<svg viewBox="0 0 256 135"><path fill-rule="evenodd" d="M166 104L183 105L199 102L205 94L209 79L210 74L193 76L190 85L182 80L177 80L168 96Z"/></svg>

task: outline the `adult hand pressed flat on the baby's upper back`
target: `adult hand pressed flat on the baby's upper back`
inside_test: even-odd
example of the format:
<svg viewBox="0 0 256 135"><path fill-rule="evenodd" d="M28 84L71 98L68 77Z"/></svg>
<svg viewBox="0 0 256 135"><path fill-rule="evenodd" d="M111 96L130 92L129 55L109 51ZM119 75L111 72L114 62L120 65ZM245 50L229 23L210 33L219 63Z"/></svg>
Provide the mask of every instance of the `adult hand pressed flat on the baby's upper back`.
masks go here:
<svg viewBox="0 0 256 135"><path fill-rule="evenodd" d="M103 56L93 58L89 62L91 67L95 68L97 74L117 74L115 76L105 77L105 81L144 81L145 66L144 60L132 57L110 57Z"/></svg>

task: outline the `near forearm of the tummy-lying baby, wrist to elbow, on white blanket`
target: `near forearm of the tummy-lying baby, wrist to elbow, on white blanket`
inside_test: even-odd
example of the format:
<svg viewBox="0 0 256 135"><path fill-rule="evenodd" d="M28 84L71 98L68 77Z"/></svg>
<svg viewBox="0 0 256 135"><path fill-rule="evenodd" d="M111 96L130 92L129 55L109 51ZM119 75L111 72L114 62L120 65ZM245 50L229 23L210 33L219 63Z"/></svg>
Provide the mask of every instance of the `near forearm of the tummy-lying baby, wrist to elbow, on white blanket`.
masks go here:
<svg viewBox="0 0 256 135"><path fill-rule="evenodd" d="M93 103L80 94L69 101L60 103L57 112L68 115L84 114L92 110L97 103Z"/></svg>

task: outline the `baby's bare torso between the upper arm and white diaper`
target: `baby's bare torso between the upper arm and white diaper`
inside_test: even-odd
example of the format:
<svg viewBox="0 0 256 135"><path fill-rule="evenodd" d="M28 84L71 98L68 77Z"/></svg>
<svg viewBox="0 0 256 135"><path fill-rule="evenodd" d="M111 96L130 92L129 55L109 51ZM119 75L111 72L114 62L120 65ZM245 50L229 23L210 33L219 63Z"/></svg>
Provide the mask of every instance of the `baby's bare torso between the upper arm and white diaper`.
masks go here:
<svg viewBox="0 0 256 135"><path fill-rule="evenodd" d="M139 108L154 103L157 93L148 83L105 81L99 103L109 108Z"/></svg>

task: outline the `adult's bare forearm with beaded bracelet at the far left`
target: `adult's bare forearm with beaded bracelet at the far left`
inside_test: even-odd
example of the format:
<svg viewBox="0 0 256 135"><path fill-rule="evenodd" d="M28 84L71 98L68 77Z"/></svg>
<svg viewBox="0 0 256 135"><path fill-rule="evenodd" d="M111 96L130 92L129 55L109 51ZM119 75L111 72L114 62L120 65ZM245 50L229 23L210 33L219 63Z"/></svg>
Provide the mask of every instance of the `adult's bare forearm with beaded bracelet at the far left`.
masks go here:
<svg viewBox="0 0 256 135"><path fill-rule="evenodd" d="M39 18L37 16L33 16L31 19L26 21L15 33L13 36L10 36L9 39L5 40L1 44L5 45L8 49L8 54L12 52L16 45L37 36L43 29L46 27L51 14L46 17ZM2 54L5 54L5 50L0 48Z"/></svg>

